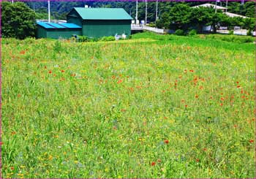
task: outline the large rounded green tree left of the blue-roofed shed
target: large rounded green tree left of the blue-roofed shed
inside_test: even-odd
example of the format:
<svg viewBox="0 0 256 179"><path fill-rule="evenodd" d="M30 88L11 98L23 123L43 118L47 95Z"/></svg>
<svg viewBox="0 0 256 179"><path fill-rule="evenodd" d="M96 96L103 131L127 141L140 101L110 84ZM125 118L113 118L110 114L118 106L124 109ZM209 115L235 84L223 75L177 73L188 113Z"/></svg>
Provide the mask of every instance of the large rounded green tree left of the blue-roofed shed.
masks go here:
<svg viewBox="0 0 256 179"><path fill-rule="evenodd" d="M3 37L25 39L34 37L36 29L35 13L23 2L1 3L1 34Z"/></svg>

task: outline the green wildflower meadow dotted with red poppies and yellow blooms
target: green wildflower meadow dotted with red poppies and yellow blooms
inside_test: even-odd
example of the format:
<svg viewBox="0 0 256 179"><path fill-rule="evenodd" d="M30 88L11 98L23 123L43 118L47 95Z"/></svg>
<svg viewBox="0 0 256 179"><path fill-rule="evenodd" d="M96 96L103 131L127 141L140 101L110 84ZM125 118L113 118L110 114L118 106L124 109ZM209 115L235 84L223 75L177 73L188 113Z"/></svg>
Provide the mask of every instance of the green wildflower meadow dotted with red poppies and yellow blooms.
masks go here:
<svg viewBox="0 0 256 179"><path fill-rule="evenodd" d="M252 42L2 39L1 65L3 178L255 178Z"/></svg>

